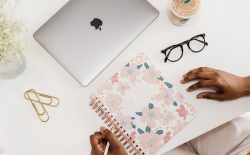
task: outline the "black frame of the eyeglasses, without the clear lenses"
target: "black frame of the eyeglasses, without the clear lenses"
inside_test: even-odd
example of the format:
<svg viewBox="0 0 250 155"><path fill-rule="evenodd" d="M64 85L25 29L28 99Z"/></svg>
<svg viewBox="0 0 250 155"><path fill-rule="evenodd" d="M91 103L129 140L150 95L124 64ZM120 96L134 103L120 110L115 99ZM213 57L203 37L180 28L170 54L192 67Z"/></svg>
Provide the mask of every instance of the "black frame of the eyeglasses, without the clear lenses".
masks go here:
<svg viewBox="0 0 250 155"><path fill-rule="evenodd" d="M183 45L185 45L185 44L187 44L188 48L189 48L193 53L199 53L199 52L201 52L201 51L205 48L205 46L208 45L208 43L206 42L205 36L206 36L205 33L199 34L199 35L196 35L196 36L192 37L192 38L189 39L189 40L183 41L182 43L179 43L179 44L175 44L175 45L169 46L169 47L167 47L166 49L162 50L161 53L163 53L163 54L165 55L164 62L166 63L167 61L170 61L170 62L177 62L177 61L179 61L179 60L182 58L182 56L183 56L183 53L184 53L184 51L183 51ZM199 37L202 37L203 40L198 40L197 38L199 38ZM198 41L198 42L201 42L201 43L203 43L203 45L204 45L204 46L203 46L200 50L198 50L198 51L195 51L195 50L193 50L193 49L190 47L190 42L191 42L191 41L194 41L194 40L195 40L195 41ZM168 58L169 58L169 55L171 54L171 52L172 52L175 48L177 48L177 47L180 47L180 48L181 48L181 56L180 56L180 58L178 58L177 60L168 59ZM167 53L167 51L169 51L169 52Z"/></svg>

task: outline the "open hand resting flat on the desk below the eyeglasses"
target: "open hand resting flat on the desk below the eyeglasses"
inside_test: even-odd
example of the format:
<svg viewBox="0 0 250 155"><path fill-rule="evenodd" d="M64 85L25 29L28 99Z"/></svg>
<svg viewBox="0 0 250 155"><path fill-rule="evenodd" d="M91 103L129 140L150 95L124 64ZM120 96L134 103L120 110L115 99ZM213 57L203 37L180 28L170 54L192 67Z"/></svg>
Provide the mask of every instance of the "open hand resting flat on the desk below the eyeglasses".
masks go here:
<svg viewBox="0 0 250 155"><path fill-rule="evenodd" d="M197 83L191 85L187 91L199 88L211 88L213 91L202 92L197 98L215 100L232 100L250 94L250 78L240 77L221 70L201 67L183 75L182 84L193 80Z"/></svg>

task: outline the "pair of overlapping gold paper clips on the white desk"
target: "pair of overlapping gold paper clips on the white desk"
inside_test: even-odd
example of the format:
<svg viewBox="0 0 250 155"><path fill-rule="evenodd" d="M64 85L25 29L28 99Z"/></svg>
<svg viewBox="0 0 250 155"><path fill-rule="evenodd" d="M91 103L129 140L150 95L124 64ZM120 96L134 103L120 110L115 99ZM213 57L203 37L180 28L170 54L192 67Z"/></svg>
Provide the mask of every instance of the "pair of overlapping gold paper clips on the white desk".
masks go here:
<svg viewBox="0 0 250 155"><path fill-rule="evenodd" d="M59 99L57 97L38 93L34 89L26 91L24 97L31 102L38 118L42 122L49 120L49 114L44 105L50 107L57 107L59 105Z"/></svg>

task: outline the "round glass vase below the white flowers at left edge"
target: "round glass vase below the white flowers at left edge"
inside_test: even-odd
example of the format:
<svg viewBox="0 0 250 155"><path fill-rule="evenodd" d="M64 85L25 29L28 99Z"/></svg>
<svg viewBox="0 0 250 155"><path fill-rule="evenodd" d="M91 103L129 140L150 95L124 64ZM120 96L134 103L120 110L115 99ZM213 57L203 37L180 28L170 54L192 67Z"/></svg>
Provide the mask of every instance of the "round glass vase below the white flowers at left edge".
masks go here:
<svg viewBox="0 0 250 155"><path fill-rule="evenodd" d="M26 67L26 59L22 53L7 54L0 58L0 78L13 79L18 77Z"/></svg>

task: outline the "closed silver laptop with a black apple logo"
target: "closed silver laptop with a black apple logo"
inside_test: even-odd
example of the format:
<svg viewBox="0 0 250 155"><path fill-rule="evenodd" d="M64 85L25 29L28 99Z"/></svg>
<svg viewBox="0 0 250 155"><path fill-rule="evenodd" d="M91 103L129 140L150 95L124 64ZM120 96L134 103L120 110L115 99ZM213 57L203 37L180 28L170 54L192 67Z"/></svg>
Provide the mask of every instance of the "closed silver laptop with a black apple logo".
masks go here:
<svg viewBox="0 0 250 155"><path fill-rule="evenodd" d="M146 0L71 0L34 38L87 86L158 15Z"/></svg>

